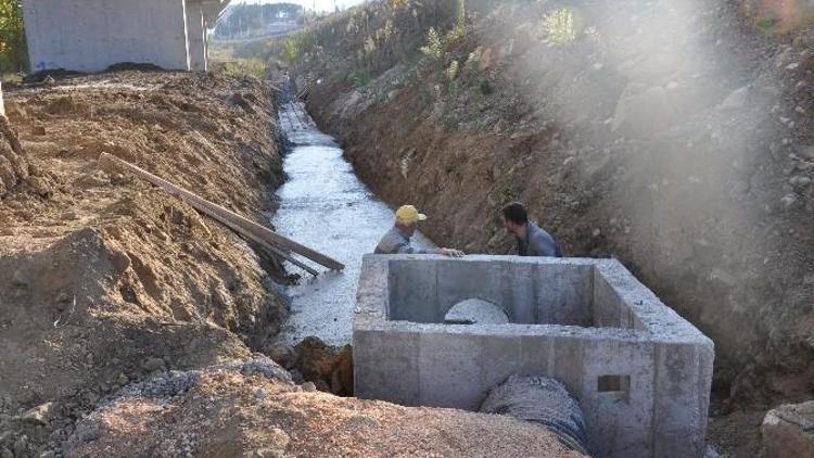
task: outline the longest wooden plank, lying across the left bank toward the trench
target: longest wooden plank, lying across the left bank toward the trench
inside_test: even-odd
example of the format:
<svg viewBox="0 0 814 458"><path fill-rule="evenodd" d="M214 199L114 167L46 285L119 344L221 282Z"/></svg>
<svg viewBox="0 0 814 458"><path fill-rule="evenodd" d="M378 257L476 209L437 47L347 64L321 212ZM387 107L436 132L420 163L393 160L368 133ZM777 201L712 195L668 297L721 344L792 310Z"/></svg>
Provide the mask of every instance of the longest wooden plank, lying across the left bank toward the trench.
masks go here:
<svg viewBox="0 0 814 458"><path fill-rule="evenodd" d="M192 192L187 191L183 188L177 187L170 183L169 181L164 180L163 178L160 178L114 155L102 153L101 156L99 156L99 163L100 165L102 165L105 162L110 162L115 165L118 165L131 171L132 174L139 176L140 178L143 178L144 180L162 188L164 191L168 192L169 194L177 195L178 198L182 199L185 202L195 207L198 211L217 219L218 221L222 222L224 225L228 226L234 231L242 233L243 236L258 243L262 241L270 245L276 245L276 246L282 247L283 250L294 252L317 264L328 267L329 269L342 270L345 268L345 266L339 260L332 259L317 251L314 251L291 239L280 236L279 233L276 233L264 226L260 226L254 221L251 221L220 205L214 204L203 198L200 198L199 195L193 194Z"/></svg>

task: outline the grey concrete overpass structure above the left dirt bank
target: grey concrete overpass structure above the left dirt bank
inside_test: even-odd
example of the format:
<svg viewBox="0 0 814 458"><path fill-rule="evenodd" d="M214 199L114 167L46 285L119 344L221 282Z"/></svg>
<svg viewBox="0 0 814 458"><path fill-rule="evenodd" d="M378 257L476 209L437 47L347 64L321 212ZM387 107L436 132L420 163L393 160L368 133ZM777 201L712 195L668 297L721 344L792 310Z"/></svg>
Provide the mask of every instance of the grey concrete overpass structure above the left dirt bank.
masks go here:
<svg viewBox="0 0 814 458"><path fill-rule="evenodd" d="M206 30L230 0L23 0L31 72L122 62L207 69Z"/></svg>

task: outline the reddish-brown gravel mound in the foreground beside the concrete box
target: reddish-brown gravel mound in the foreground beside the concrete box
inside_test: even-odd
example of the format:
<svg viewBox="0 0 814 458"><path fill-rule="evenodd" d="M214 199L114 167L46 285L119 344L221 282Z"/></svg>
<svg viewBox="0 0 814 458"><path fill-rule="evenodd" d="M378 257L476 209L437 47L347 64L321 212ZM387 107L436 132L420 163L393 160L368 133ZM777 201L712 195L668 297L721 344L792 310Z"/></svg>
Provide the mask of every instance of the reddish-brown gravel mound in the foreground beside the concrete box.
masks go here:
<svg viewBox="0 0 814 458"><path fill-rule="evenodd" d="M130 386L77 427L81 456L580 456L501 416L341 398L293 384L268 359Z"/></svg>

